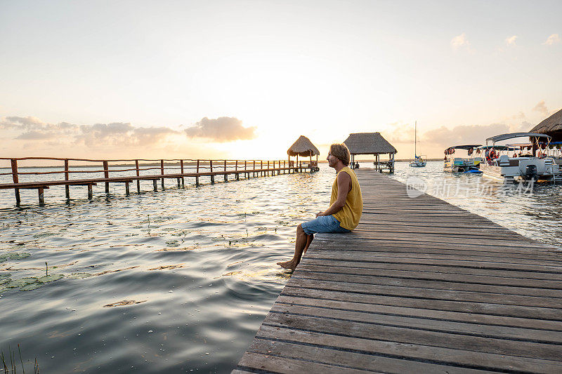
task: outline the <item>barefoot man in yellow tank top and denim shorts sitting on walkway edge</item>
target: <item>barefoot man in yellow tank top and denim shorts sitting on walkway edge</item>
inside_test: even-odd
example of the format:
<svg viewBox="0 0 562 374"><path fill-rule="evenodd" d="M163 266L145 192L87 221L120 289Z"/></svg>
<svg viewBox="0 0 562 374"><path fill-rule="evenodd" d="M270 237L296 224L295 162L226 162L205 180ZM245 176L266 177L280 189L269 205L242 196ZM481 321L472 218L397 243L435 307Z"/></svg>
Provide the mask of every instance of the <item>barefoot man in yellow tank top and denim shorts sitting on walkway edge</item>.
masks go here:
<svg viewBox="0 0 562 374"><path fill-rule="evenodd" d="M337 173L329 199L330 206L318 213L314 220L296 227L294 256L289 261L277 262L277 265L285 269L296 269L316 232L351 232L357 227L363 211L363 199L357 176L348 167L350 158L345 144L330 145L327 161Z"/></svg>

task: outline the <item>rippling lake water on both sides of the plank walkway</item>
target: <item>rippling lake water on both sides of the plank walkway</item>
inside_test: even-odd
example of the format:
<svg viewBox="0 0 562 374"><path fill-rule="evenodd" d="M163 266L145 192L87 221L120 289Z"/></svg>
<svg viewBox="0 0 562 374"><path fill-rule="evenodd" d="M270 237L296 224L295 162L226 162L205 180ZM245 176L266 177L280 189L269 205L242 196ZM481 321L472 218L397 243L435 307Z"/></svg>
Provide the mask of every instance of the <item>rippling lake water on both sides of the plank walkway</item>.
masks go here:
<svg viewBox="0 0 562 374"><path fill-rule="evenodd" d="M443 173L440 162L396 164L393 178L412 177L430 194L562 244L560 186L522 192ZM327 208L333 178L322 164L313 174L185 189L168 180L164 192L147 181L148 192L130 196L99 185L92 201L86 187L71 187L69 203L52 187L44 207L23 190L22 208L0 190L0 349L19 344L29 372L37 358L43 373L228 373L289 278L275 262L292 256L294 227Z"/></svg>

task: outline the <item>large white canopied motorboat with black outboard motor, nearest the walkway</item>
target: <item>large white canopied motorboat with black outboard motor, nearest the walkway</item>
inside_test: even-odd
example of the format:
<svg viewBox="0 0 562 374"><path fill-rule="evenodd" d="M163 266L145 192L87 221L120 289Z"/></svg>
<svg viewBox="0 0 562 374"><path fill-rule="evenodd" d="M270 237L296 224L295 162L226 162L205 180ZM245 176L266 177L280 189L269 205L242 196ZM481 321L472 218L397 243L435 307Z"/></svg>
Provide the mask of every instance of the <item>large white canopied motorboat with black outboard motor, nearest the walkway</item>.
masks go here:
<svg viewBox="0 0 562 374"><path fill-rule="evenodd" d="M513 147L496 146L496 142L521 137L530 138L532 152L529 154L514 154L510 157L509 151L514 150ZM553 182L560 180L561 173L558 164L554 162L554 159L540 152L539 140L547 140L548 145L550 138L549 135L540 133L509 133L486 139L486 147L480 148L481 156L485 160L480 164L483 176L504 183L521 180L548 180ZM492 142L490 147L488 146L489 142Z"/></svg>

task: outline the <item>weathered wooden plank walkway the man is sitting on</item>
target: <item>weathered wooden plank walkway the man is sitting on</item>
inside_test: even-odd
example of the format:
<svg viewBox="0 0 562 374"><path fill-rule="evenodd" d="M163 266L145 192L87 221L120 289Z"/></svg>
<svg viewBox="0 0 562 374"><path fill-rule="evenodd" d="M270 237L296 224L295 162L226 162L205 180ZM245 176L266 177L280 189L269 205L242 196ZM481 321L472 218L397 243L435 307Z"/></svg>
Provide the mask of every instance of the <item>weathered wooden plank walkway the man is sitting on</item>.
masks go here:
<svg viewBox="0 0 562 374"><path fill-rule="evenodd" d="M372 170L233 373L562 373L562 252Z"/></svg>

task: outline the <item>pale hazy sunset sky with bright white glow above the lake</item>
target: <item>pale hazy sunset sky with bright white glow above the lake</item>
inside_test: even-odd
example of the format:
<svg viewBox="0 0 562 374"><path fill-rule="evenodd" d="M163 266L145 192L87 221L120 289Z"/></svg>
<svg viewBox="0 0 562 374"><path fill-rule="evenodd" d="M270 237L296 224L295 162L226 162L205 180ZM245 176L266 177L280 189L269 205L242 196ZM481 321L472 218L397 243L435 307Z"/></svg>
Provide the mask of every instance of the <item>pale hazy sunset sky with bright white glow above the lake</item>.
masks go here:
<svg viewBox="0 0 562 374"><path fill-rule="evenodd" d="M0 0L0 157L398 159L562 108L562 1Z"/></svg>

